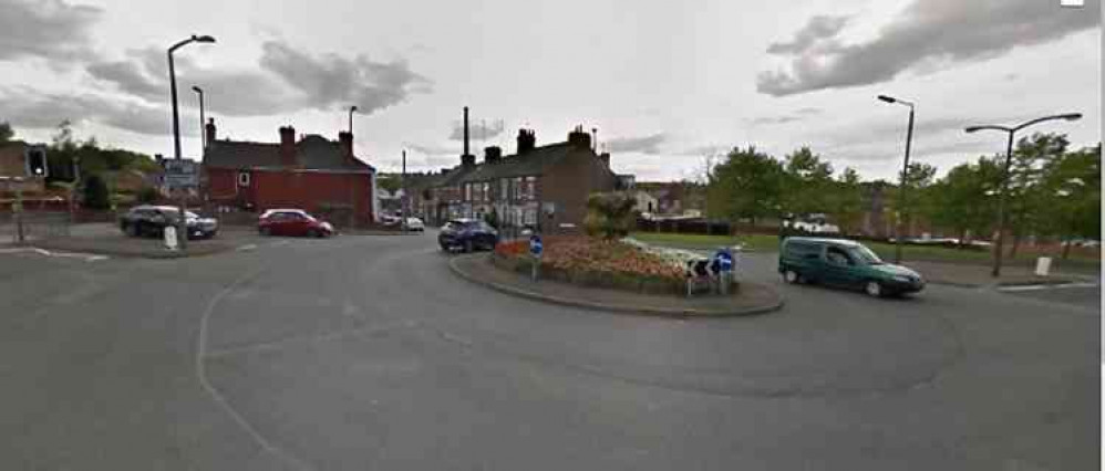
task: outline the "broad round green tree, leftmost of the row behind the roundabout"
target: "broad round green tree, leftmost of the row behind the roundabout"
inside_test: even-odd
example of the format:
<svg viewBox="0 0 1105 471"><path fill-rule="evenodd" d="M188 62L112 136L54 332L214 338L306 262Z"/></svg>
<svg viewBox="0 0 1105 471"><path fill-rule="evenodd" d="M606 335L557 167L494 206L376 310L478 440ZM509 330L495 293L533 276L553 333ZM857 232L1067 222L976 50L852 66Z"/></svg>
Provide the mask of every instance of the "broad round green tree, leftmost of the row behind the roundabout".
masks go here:
<svg viewBox="0 0 1105 471"><path fill-rule="evenodd" d="M783 166L755 147L734 148L710 177L711 214L730 220L777 216L781 211Z"/></svg>

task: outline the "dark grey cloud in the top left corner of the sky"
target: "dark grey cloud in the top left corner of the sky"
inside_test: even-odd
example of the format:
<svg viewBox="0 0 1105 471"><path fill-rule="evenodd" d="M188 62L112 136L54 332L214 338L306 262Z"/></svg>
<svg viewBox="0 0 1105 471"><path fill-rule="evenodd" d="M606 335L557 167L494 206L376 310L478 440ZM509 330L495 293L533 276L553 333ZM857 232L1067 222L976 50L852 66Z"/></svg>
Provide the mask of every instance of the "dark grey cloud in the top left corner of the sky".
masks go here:
<svg viewBox="0 0 1105 471"><path fill-rule="evenodd" d="M87 53L89 31L101 9L62 0L0 0L0 60L69 59Z"/></svg>

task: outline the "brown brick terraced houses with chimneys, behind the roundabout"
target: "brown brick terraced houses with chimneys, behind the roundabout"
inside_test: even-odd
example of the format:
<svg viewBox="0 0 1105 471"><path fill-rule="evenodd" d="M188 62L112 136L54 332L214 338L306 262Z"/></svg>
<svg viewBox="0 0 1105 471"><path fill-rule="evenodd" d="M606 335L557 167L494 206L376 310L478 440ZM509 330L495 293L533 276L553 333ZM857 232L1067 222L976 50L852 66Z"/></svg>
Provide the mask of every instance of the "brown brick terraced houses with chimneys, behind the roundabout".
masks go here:
<svg viewBox="0 0 1105 471"><path fill-rule="evenodd" d="M536 145L533 130L520 129L517 145L509 156L496 146L485 148L481 164L465 149L459 166L412 191L414 210L432 223L494 213L507 228L575 233L582 230L588 196L619 187L610 155L596 154L580 127L566 142L545 146Z"/></svg>

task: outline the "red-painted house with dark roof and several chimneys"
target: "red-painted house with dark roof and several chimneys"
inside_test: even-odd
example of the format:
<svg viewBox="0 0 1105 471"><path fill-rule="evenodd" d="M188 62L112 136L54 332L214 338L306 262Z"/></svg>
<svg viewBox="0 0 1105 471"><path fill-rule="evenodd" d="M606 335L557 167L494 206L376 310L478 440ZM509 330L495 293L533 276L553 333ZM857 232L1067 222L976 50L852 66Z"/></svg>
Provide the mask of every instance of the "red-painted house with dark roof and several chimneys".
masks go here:
<svg viewBox="0 0 1105 471"><path fill-rule="evenodd" d="M209 205L247 211L300 208L338 224L362 226L376 217L375 174L353 154L352 133L338 140L281 127L279 143L217 139L206 125L203 192Z"/></svg>

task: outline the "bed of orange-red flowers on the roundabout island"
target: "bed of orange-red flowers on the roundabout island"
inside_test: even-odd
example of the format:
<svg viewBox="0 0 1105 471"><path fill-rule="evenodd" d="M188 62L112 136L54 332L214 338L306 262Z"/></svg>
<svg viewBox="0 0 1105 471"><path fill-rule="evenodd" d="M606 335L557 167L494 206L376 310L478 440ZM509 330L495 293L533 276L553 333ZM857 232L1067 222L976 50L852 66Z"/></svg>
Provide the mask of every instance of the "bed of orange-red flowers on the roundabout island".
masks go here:
<svg viewBox="0 0 1105 471"><path fill-rule="evenodd" d="M545 279L647 293L684 289L681 266L631 244L585 237L551 237L544 242L540 273ZM528 241L503 242L495 248L492 262L529 273L533 260L528 253Z"/></svg>

